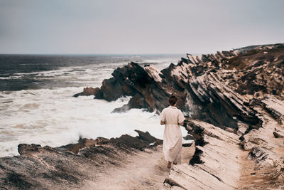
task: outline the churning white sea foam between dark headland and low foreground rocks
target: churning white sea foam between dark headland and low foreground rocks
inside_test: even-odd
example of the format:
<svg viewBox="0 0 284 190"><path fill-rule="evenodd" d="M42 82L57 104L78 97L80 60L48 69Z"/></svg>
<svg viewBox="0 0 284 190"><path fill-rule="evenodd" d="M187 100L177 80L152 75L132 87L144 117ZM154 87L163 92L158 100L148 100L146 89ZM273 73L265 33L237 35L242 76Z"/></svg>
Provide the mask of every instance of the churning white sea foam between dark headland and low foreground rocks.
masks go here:
<svg viewBox="0 0 284 190"><path fill-rule="evenodd" d="M2 93L7 101L1 109L0 156L18 154L19 143L35 143L58 147L87 138L136 136L134 130L148 131L163 139L163 127L155 112L133 109L125 113L111 113L126 104L130 97L115 102L72 97L81 88L56 90L21 90ZM9 102L12 101L12 102ZM183 131L186 134L186 131Z"/></svg>

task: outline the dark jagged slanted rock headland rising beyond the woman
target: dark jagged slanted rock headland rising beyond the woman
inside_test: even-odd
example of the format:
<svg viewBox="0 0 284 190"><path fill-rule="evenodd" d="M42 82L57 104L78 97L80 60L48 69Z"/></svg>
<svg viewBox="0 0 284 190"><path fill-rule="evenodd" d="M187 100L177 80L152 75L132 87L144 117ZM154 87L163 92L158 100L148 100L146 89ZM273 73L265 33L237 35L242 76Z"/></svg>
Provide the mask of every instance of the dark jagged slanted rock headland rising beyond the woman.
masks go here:
<svg viewBox="0 0 284 190"><path fill-rule="evenodd" d="M114 70L113 78L102 82L94 98L112 101L132 96L114 112L131 108L161 111L168 106L168 96L175 94L178 107L192 118L219 127L238 129L242 122L258 129L261 120L249 101L263 94L283 97L283 55L284 45L277 44L202 56L187 54L177 65L163 70L131 62Z"/></svg>

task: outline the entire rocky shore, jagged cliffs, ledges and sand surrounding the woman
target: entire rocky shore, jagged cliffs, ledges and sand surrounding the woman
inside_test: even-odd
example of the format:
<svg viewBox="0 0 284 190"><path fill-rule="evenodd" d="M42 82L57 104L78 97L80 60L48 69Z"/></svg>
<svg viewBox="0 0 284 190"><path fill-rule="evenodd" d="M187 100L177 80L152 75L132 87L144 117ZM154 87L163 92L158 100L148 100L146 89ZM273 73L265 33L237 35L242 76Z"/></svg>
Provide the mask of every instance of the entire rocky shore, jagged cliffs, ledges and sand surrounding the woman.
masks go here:
<svg viewBox="0 0 284 190"><path fill-rule="evenodd" d="M161 140L140 131L138 137L80 139L58 148L19 144L21 156L0 159L0 188L284 188L284 44L187 54L163 70L131 62L112 76L101 88L74 96L131 96L113 112L159 114L168 96L177 95L195 137L194 146L182 150L182 164L165 169Z"/></svg>

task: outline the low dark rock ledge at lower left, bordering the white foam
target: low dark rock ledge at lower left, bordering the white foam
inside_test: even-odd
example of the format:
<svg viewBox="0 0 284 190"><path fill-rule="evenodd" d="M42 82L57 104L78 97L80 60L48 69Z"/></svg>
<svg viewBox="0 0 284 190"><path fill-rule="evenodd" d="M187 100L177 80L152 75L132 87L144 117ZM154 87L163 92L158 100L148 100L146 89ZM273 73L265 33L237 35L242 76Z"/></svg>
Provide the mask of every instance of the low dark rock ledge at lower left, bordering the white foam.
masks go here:
<svg viewBox="0 0 284 190"><path fill-rule="evenodd" d="M19 144L20 156L0 158L0 189L84 189L107 168L127 164L139 149L161 143L148 132L136 132L138 137L80 139L57 148Z"/></svg>

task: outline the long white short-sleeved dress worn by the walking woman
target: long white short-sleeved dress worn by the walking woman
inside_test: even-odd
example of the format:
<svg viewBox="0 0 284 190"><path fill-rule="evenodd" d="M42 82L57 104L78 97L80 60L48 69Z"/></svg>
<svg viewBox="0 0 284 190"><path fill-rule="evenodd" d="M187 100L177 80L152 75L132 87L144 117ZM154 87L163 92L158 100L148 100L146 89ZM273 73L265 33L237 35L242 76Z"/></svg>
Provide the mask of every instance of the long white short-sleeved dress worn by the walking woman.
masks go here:
<svg viewBox="0 0 284 190"><path fill-rule="evenodd" d="M180 125L185 117L177 107L169 106L160 113L160 120L165 122L163 152L165 160L181 164L182 161L182 131Z"/></svg>

